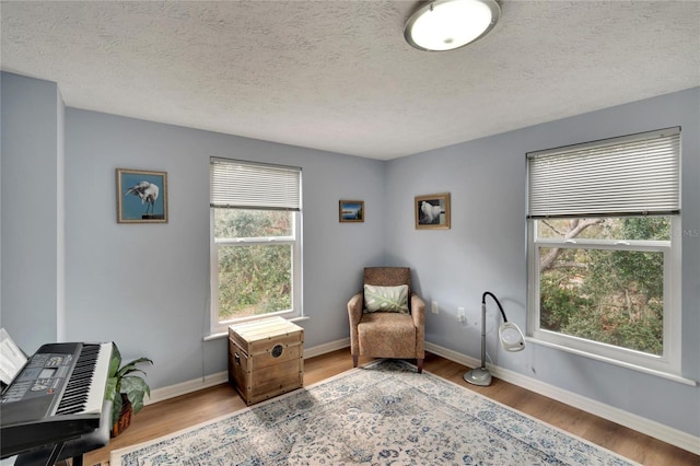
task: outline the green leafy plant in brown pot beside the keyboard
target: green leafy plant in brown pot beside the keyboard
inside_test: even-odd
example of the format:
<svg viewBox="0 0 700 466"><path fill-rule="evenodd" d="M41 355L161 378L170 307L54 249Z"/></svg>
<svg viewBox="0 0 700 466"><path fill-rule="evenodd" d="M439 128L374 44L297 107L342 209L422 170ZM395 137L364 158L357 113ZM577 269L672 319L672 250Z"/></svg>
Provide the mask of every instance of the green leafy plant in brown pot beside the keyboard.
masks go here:
<svg viewBox="0 0 700 466"><path fill-rule="evenodd" d="M131 413L136 415L143 408L143 397L151 396L151 387L138 374L140 372L145 375L145 372L137 365L153 364L153 361L149 358L138 358L122 365L119 348L116 343L113 346L105 398L113 403L112 436L117 436L129 427Z"/></svg>

